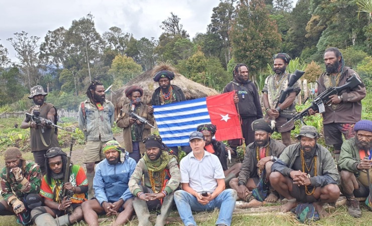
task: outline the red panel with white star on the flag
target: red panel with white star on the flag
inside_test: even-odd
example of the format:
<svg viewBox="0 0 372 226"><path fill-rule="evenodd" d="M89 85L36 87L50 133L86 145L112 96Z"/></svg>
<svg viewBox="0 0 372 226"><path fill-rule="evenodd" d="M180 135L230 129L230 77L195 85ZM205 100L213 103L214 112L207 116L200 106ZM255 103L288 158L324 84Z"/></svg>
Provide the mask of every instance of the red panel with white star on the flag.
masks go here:
<svg viewBox="0 0 372 226"><path fill-rule="evenodd" d="M234 92L226 92L206 98L211 122L217 127L215 137L218 141L243 138L233 97Z"/></svg>

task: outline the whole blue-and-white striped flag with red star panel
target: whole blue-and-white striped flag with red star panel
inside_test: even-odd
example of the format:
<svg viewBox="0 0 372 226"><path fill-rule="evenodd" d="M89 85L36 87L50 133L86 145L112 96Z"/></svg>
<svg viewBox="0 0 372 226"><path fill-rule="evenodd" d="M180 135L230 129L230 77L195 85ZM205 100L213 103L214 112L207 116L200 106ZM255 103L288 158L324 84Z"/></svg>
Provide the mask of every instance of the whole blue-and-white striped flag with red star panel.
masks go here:
<svg viewBox="0 0 372 226"><path fill-rule="evenodd" d="M159 134L169 147L189 145L189 136L202 124L217 126L218 141L241 139L241 127L233 100L234 92L157 105L154 117Z"/></svg>

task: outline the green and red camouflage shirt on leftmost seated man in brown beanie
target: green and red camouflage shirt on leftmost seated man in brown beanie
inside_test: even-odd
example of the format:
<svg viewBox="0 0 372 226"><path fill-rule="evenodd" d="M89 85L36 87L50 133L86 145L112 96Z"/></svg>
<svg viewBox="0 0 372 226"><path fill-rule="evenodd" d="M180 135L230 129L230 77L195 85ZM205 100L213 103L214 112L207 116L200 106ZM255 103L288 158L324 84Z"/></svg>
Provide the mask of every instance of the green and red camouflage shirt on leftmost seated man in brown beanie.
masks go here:
<svg viewBox="0 0 372 226"><path fill-rule="evenodd" d="M21 199L25 194L39 193L42 177L39 165L34 162L26 161L26 170L23 176L28 180L24 185L16 181L13 173L10 173L8 178L7 167L3 168L1 174L2 195L7 203L9 203L9 198L14 196L14 194L16 194L17 198Z"/></svg>

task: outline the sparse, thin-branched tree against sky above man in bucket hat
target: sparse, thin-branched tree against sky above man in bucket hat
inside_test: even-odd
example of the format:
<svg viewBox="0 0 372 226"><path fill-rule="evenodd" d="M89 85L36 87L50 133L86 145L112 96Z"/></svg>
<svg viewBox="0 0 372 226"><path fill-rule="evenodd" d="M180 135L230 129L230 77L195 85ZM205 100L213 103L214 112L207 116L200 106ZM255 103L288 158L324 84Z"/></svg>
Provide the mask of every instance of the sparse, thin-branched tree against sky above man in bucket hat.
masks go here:
<svg viewBox="0 0 372 226"><path fill-rule="evenodd" d="M13 46L14 50L17 53L17 58L21 61L22 69L26 72L27 84L29 88L34 85L32 82L33 77L38 74L37 65L38 65L38 54L36 48L38 47L37 42L39 37L31 36L28 37L28 33L22 31L21 33L15 33L14 38L7 39Z"/></svg>

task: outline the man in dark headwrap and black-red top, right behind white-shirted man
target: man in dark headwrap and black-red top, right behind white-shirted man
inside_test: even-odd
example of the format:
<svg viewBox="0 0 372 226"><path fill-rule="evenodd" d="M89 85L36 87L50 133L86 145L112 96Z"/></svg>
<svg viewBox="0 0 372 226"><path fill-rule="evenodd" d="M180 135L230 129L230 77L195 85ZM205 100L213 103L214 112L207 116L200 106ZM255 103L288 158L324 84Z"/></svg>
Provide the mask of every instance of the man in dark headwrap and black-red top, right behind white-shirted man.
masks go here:
<svg viewBox="0 0 372 226"><path fill-rule="evenodd" d="M232 150L230 147L226 147L223 142L216 141L213 138L215 136L217 127L213 124L204 124L200 125L197 128L198 132L201 132L204 135L204 139L206 142L206 146L204 147L207 152L211 154L215 154L220 163L222 165L222 170L224 171L225 175L225 185L229 185L229 182L232 178L236 178L239 175L241 163L236 163L235 165L231 166L229 169L227 168L227 156L228 151L232 155L237 155L237 152Z"/></svg>

